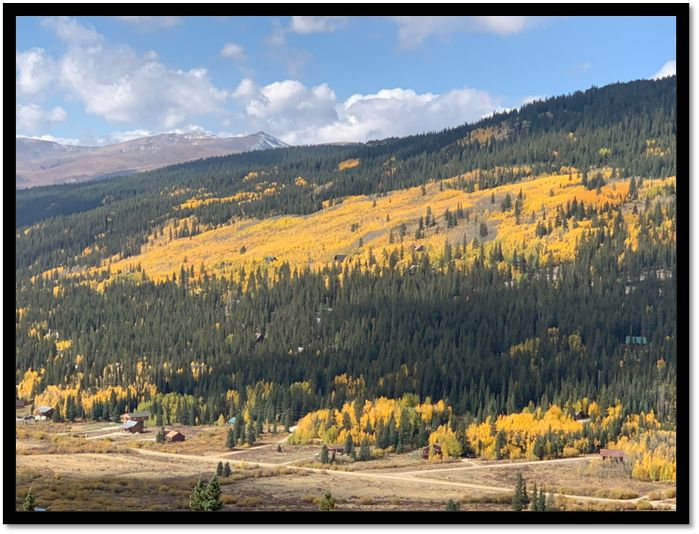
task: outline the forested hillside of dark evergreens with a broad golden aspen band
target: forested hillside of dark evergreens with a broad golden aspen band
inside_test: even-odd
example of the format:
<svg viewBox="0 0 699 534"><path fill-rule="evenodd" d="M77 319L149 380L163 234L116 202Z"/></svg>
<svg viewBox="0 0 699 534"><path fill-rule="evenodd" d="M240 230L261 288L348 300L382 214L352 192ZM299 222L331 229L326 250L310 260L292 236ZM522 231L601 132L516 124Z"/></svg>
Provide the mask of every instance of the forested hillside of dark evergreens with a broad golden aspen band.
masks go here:
<svg viewBox="0 0 699 534"><path fill-rule="evenodd" d="M616 410L585 451L630 414L674 429L675 176L672 77L18 191L17 393L192 424L408 394L474 439L524 408Z"/></svg>

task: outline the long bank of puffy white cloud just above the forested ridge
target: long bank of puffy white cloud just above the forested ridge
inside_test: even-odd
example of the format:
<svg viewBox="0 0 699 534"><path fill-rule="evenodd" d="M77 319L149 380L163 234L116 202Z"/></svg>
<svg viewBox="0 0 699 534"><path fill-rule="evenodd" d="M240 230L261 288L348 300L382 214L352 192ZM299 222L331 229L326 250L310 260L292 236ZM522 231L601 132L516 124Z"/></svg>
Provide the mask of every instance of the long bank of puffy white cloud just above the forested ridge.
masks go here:
<svg viewBox="0 0 699 534"><path fill-rule="evenodd" d="M245 109L241 124L248 133L265 130L289 144L367 141L441 130L501 109L487 91L468 87L440 95L385 89L341 101L327 84L308 88L285 80L259 86L245 79L232 98Z"/></svg>

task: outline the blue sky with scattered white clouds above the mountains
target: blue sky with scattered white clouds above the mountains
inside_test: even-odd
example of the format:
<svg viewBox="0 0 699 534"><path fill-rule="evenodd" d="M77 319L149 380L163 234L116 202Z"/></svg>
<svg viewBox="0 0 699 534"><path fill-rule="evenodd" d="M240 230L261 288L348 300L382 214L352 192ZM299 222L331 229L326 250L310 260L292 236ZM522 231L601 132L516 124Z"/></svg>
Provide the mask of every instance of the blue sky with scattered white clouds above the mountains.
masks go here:
<svg viewBox="0 0 699 534"><path fill-rule="evenodd" d="M676 17L16 17L16 136L438 131L676 73Z"/></svg>

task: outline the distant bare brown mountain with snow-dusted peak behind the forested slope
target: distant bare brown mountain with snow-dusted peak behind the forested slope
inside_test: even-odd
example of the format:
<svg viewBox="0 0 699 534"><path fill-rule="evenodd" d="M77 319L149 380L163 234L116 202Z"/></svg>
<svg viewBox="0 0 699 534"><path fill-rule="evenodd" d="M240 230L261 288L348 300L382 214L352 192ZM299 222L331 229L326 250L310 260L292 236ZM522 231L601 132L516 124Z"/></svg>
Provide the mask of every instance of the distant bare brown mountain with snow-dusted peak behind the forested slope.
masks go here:
<svg viewBox="0 0 699 534"><path fill-rule="evenodd" d="M16 138L15 186L100 180L194 159L284 148L279 139L257 132L221 138L208 133L162 134L101 147L62 145Z"/></svg>

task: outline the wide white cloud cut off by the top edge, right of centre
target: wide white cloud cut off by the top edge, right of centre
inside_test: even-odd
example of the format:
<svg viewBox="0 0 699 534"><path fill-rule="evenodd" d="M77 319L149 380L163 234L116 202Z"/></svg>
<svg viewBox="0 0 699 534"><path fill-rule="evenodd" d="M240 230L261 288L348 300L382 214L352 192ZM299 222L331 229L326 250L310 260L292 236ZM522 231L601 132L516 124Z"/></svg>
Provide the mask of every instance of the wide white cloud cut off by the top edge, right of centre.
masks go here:
<svg viewBox="0 0 699 534"><path fill-rule="evenodd" d="M415 48L430 35L446 36L454 32L515 34L542 25L550 19L550 17L534 16L401 16L388 18L398 26L398 40L403 48Z"/></svg>

